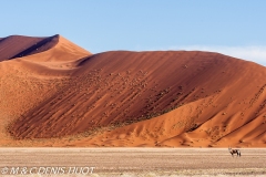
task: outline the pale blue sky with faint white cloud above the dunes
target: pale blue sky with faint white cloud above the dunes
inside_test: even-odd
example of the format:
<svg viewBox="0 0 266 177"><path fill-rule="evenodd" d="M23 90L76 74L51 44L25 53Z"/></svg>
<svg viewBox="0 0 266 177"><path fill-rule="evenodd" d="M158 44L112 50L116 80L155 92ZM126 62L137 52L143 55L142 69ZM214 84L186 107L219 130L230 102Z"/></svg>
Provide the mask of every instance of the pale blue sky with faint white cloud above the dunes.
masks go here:
<svg viewBox="0 0 266 177"><path fill-rule="evenodd" d="M61 34L92 53L215 51L266 65L266 0L2 0L0 37Z"/></svg>

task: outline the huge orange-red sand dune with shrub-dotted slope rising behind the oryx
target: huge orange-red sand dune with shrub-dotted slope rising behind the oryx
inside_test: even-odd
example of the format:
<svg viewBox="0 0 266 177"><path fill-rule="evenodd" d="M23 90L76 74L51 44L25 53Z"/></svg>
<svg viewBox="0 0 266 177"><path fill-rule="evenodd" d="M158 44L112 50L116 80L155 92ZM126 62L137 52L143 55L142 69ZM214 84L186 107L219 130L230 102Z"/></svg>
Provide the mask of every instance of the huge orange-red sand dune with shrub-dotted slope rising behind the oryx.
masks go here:
<svg viewBox="0 0 266 177"><path fill-rule="evenodd" d="M91 54L52 38L0 62L1 144L265 147L264 66L200 51ZM12 40L0 54L31 48Z"/></svg>

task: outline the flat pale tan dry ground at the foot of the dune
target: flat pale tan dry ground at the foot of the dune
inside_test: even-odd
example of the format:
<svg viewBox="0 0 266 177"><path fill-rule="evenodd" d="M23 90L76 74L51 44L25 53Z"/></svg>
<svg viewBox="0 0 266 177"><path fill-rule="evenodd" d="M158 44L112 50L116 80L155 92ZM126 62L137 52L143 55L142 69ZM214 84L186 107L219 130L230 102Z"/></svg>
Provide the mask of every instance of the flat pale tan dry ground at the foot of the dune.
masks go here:
<svg viewBox="0 0 266 177"><path fill-rule="evenodd" d="M22 167L28 171L34 167L34 173L40 167L64 167L60 176L266 175L264 148L242 148L242 157L234 158L226 148L1 148L0 157L1 173L4 167L8 173L12 167L20 167L19 173ZM69 175L73 167L95 168L92 174ZM28 176L41 176L37 174Z"/></svg>

